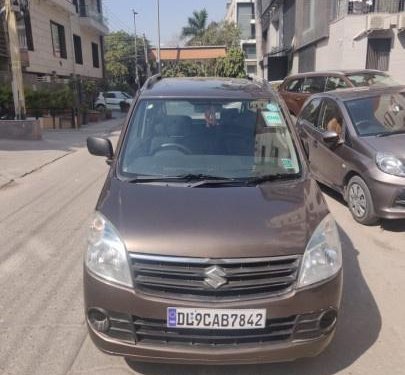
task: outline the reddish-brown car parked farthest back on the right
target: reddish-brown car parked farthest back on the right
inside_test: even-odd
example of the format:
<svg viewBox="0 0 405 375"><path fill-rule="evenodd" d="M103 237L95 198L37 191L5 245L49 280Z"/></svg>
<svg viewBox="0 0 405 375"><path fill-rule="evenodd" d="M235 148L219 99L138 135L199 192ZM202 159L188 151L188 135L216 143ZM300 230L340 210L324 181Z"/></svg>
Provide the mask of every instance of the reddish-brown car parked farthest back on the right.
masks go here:
<svg viewBox="0 0 405 375"><path fill-rule="evenodd" d="M398 85L388 74L379 70L343 70L310 72L287 77L279 87L291 114L297 116L304 102L313 94L349 87Z"/></svg>

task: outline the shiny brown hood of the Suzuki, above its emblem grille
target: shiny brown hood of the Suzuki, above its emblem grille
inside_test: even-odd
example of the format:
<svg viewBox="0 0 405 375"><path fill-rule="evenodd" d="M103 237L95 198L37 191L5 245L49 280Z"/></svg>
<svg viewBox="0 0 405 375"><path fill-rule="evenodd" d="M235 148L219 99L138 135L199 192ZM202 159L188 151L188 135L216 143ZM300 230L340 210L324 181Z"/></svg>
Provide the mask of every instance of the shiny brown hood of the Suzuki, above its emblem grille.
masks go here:
<svg viewBox="0 0 405 375"><path fill-rule="evenodd" d="M204 258L302 254L328 212L312 179L190 188L112 178L97 208L129 252Z"/></svg>

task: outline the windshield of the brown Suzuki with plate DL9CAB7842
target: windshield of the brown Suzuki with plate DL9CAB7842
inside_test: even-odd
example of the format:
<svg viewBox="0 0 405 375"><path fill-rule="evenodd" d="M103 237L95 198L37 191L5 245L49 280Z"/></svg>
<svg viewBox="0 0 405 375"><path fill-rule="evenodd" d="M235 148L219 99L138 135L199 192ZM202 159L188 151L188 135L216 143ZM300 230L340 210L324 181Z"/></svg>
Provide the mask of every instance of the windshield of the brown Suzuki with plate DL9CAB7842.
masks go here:
<svg viewBox="0 0 405 375"><path fill-rule="evenodd" d="M141 100L125 137L127 178L297 177L290 129L272 100Z"/></svg>

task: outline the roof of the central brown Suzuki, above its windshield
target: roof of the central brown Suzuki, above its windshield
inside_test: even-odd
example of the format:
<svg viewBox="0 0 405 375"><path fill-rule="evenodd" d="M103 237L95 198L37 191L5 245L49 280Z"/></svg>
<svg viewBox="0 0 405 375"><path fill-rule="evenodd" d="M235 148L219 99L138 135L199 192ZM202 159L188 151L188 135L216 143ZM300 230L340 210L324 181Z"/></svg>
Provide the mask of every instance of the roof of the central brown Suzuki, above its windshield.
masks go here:
<svg viewBox="0 0 405 375"><path fill-rule="evenodd" d="M141 92L142 98L273 98L266 82L236 78L160 78L152 77Z"/></svg>

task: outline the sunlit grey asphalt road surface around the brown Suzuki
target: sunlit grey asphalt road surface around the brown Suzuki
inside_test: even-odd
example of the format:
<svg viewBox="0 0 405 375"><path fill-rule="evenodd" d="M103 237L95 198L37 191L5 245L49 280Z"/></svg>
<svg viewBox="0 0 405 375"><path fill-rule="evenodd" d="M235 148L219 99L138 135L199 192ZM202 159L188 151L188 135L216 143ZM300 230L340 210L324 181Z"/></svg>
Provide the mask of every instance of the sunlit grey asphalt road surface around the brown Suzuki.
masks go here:
<svg viewBox="0 0 405 375"><path fill-rule="evenodd" d="M345 284L336 338L320 357L131 369L99 352L84 322L82 256L106 172L102 159L79 149L0 190L0 374L405 374L405 222L362 227L328 192Z"/></svg>

